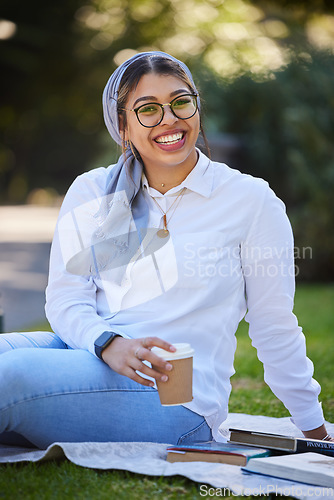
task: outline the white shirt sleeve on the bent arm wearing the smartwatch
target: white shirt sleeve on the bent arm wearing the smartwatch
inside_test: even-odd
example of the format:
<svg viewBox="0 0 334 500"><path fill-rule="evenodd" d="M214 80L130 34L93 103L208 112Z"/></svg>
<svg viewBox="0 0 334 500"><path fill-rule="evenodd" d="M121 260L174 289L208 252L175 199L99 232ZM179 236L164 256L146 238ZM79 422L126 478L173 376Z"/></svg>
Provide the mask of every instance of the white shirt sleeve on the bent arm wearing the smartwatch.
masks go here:
<svg viewBox="0 0 334 500"><path fill-rule="evenodd" d="M85 349L95 355L94 342L104 331L114 331L127 337L122 332L99 316L97 312L97 287L92 276L76 275L66 270L66 251L78 245L78 231L69 224L76 209L90 204L96 207L103 193L105 169L97 169L94 174L79 176L68 190L62 204L51 246L49 279L46 288L45 311L53 331L73 349ZM100 172L99 172L100 171ZM99 186L99 184L101 184ZM89 233L89 220L82 221L82 226ZM66 253L66 252L65 252Z"/></svg>

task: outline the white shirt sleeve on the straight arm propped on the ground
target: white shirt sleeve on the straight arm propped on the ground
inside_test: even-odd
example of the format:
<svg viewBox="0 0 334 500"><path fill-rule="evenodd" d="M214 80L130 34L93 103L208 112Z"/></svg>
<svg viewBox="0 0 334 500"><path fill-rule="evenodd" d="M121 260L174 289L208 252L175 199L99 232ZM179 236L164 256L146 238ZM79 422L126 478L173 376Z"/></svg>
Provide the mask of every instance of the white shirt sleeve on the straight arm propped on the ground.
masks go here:
<svg viewBox="0 0 334 500"><path fill-rule="evenodd" d="M319 384L306 355L302 329L293 314L294 243L285 206L265 185L260 208L242 244L249 335L264 365L264 380L283 402L295 425L323 424Z"/></svg>

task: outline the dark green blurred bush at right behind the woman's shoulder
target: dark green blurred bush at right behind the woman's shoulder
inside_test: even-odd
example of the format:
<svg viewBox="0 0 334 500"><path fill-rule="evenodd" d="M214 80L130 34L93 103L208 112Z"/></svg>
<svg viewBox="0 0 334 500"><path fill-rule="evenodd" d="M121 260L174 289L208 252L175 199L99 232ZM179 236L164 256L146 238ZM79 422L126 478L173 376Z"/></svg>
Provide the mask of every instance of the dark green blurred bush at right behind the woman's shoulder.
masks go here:
<svg viewBox="0 0 334 500"><path fill-rule="evenodd" d="M287 205L302 279L334 277L334 57L297 58L274 78L230 84L199 73L208 129L237 134L238 167L266 179Z"/></svg>

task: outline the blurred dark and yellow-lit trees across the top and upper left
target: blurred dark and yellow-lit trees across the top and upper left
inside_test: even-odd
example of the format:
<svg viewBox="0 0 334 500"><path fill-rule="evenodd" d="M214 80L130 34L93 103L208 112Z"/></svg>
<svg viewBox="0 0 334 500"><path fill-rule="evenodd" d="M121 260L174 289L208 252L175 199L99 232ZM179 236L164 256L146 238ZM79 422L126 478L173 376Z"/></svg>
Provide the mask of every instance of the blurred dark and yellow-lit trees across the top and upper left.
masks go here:
<svg viewBox="0 0 334 500"><path fill-rule="evenodd" d="M271 78L309 46L334 47L320 0L3 0L0 20L0 196L64 191L101 148L101 91L135 50L158 48L224 84ZM214 124L217 111L213 113ZM112 143L107 161L115 158ZM101 157L104 160L104 156ZM99 161L99 160L98 160Z"/></svg>

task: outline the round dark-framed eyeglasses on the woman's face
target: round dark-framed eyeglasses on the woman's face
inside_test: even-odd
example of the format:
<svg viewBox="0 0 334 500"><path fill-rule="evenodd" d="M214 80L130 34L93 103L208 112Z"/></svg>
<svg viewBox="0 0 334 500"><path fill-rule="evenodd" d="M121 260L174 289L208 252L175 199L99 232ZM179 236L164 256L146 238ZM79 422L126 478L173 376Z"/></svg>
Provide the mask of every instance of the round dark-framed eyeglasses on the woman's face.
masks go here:
<svg viewBox="0 0 334 500"><path fill-rule="evenodd" d="M126 111L134 111L139 123L143 127L152 128L162 122L165 114L165 106L169 106L173 115L176 118L180 118L180 120L188 120L194 116L198 109L197 97L198 94L182 94L167 104L148 102L138 108L126 109Z"/></svg>

